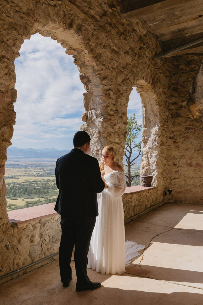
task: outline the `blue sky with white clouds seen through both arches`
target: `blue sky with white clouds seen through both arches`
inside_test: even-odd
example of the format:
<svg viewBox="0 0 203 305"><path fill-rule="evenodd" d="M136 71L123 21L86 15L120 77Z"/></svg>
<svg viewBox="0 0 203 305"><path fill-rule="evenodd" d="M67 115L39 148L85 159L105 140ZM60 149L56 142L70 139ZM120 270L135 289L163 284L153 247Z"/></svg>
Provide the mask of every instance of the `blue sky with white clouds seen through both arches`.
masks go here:
<svg viewBox="0 0 203 305"><path fill-rule="evenodd" d="M17 102L12 145L20 148L71 149L80 130L84 86L72 56L57 41L32 35L15 60ZM141 99L133 88L128 116L141 124Z"/></svg>

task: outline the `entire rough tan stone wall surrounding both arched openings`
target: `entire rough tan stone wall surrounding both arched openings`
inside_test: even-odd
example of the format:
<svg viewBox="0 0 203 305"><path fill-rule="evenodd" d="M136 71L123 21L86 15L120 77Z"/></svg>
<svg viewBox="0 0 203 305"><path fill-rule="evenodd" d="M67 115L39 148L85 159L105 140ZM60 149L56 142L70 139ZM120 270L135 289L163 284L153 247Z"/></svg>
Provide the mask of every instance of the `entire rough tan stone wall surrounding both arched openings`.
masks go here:
<svg viewBox="0 0 203 305"><path fill-rule="evenodd" d="M3 179L6 149L11 145L16 115L13 106L17 95L14 61L24 39L37 32L57 40L66 48L66 53L74 57L86 90L85 124L81 129L89 132L92 138L92 154L99 158L102 147L112 144L120 156L124 155L128 99L132 87L136 86L143 101L145 120L142 173L153 174L153 185L158 187L153 192L153 200L149 193L149 196L141 196L142 203L145 206L159 203L163 190L168 188L173 189L170 198L174 202L201 203L201 118L197 116L194 120L188 111L190 103L187 106L191 85L199 74L200 57L185 55L155 59L156 53L161 51L158 39L143 20L134 23L126 20L120 14L117 1L98 0L95 5L91 0L4 0L0 16L2 274L55 251L50 246L49 234L47 240L40 235L42 239L36 241L30 253L33 257L29 257L27 249L33 246L33 225L23 230L13 228L9 223ZM195 95L195 104L201 107L197 99L198 95ZM136 213L133 200L129 215ZM42 224L48 226L46 222L42 221ZM33 230L37 229L36 223ZM52 229L55 231L56 228ZM43 231L42 227L39 230Z"/></svg>

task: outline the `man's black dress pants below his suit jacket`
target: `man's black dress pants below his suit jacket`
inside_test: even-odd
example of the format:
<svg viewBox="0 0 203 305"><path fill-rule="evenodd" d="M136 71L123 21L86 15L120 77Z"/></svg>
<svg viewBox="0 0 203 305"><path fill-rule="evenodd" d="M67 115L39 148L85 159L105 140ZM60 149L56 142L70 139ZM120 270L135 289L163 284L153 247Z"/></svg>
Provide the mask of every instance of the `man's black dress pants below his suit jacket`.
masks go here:
<svg viewBox="0 0 203 305"><path fill-rule="evenodd" d="M59 247L59 268L61 282L67 283L72 277L71 257L75 245L76 287L85 287L90 283L87 276L87 254L96 217L70 219L61 216L61 243Z"/></svg>

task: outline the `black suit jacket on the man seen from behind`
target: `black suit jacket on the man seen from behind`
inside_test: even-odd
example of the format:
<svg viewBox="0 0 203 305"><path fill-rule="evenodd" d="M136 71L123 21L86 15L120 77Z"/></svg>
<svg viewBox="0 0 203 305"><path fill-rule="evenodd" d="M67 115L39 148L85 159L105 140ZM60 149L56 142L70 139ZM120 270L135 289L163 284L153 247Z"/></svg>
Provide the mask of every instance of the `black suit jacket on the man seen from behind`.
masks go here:
<svg viewBox="0 0 203 305"><path fill-rule="evenodd" d="M74 148L56 161L59 195L54 210L63 217L98 216L97 193L104 189L99 163Z"/></svg>

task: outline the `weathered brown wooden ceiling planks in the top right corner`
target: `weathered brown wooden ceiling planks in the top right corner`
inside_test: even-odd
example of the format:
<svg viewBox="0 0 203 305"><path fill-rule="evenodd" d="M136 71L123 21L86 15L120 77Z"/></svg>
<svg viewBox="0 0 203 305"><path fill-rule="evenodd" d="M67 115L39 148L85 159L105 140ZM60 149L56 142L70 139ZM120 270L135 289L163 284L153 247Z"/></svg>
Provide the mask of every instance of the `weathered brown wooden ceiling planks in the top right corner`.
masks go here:
<svg viewBox="0 0 203 305"><path fill-rule="evenodd" d="M203 29L202 0L166 0L124 14L130 19L141 17L162 40L201 35Z"/></svg>

